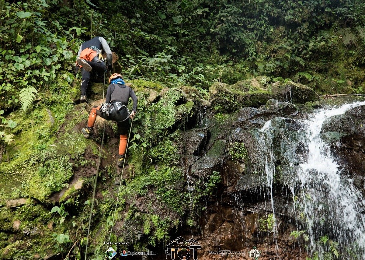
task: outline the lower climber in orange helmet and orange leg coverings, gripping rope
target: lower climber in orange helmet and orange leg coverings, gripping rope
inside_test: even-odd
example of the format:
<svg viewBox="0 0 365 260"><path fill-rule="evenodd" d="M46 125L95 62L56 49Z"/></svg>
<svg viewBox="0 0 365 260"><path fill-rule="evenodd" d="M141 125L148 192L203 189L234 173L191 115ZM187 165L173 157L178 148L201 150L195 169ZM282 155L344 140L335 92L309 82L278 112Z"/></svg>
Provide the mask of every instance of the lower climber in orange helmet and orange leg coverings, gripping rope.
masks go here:
<svg viewBox="0 0 365 260"><path fill-rule="evenodd" d="M127 133L129 124L127 119L134 118L134 115L137 112L138 100L133 89L124 83L122 75L118 73L112 74L109 78L109 84L105 104L91 109L88 126L83 128L81 133L85 138L90 137L97 116L101 116L107 120L116 121L120 135L118 166L122 167L124 160L126 160L125 154L127 149ZM129 98L132 98L133 100L132 112L130 113L127 108Z"/></svg>

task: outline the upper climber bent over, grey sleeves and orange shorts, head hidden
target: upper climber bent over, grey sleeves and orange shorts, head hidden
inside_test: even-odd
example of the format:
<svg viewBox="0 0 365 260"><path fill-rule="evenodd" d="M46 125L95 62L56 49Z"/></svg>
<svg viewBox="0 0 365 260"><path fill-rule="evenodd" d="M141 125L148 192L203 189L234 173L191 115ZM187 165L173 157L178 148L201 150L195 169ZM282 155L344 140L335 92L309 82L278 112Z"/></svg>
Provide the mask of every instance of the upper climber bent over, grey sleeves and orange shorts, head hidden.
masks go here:
<svg viewBox="0 0 365 260"><path fill-rule="evenodd" d="M90 72L95 70L99 74L103 74L107 67L101 56L102 53L107 54L108 70L111 72L112 52L103 37L94 37L91 40L81 44L77 53L76 65L81 67L81 97L80 102L87 102L86 89L90 81Z"/></svg>

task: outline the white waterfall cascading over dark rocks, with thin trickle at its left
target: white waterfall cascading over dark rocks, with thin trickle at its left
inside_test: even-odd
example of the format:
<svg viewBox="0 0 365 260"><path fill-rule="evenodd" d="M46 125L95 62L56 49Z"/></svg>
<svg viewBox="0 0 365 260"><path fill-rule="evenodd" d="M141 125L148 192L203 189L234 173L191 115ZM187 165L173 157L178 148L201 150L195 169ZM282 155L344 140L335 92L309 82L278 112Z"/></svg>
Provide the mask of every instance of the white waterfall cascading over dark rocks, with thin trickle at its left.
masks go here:
<svg viewBox="0 0 365 260"><path fill-rule="evenodd" d="M316 241L328 235L329 239L339 243L342 250L350 248L360 256L359 259L365 259L365 219L362 214L365 200L352 179L342 175L341 165L331 154L330 146L321 138L322 125L326 119L364 104L357 102L318 110L307 119L296 119L294 124L297 129L294 130L289 129L293 119L287 118L271 119L259 130L261 171L267 180L274 220L273 189L280 164L291 169L296 176L294 183L287 183L287 186L293 192L293 198L296 198L295 214L300 222L298 225L309 236L310 253L321 253L324 243L320 246ZM289 131L293 133L293 138L286 136ZM297 154L292 142L303 144L303 152ZM276 228L274 225L274 235Z"/></svg>

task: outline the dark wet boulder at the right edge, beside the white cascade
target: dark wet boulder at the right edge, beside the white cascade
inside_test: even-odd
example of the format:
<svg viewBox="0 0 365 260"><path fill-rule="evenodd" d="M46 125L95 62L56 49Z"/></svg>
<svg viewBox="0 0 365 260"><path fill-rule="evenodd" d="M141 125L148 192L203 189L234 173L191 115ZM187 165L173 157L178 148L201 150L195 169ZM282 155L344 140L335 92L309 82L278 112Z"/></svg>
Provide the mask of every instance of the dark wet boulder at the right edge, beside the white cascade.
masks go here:
<svg viewBox="0 0 365 260"><path fill-rule="evenodd" d="M329 118L323 123L322 137L339 158L344 173L365 176L365 105Z"/></svg>

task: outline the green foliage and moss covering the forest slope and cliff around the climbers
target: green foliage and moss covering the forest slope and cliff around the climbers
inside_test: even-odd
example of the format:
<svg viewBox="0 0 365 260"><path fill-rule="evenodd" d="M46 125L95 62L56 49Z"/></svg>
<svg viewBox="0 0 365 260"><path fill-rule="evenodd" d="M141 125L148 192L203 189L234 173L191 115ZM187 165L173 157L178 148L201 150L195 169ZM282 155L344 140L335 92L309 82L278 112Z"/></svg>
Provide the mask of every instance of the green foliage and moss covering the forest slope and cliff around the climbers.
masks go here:
<svg viewBox="0 0 365 260"><path fill-rule="evenodd" d="M133 161L128 174L133 179L123 185L116 213L117 221L126 220L126 233L124 237L112 234L111 240L130 239L141 250L166 243L169 230L178 227L187 211L192 213L188 226L199 223L196 220L205 210L201 204L216 195L222 181L220 173L213 172L184 193L176 129L192 116L191 100L208 102L207 88L216 81L231 84L255 76L305 83L322 93L363 93L363 8L360 0L100 0L97 6L89 0L0 0L1 205L3 194L50 203L52 193L68 188L75 168L92 168L95 162L84 160L83 155L87 149L96 154L97 145L86 143L73 130L87 117L84 107L73 110L72 98L80 83L74 61L83 41L103 36L119 55L119 69L135 85L140 104L128 151ZM184 85L196 88L187 93ZM164 87L169 87L166 95L153 96L153 91L160 93ZM145 88L149 94L143 92ZM217 114L216 120L228 117ZM61 127L64 134L59 135ZM230 144L228 149L233 160L248 157L243 143ZM115 174L108 166L102 184L107 186L106 180ZM24 181L19 184L19 179ZM90 188L93 180L86 178L84 185ZM19 245L8 257L30 258L37 242L44 248L54 245L52 249L66 258L80 257L90 201L80 206L79 200L87 198L72 194L74 198L67 201L80 210L78 217L71 217L77 214L62 204L67 199L63 196L51 210L57 222L53 237L50 230L43 230L51 240L37 238L28 248ZM95 234L97 241L104 241L114 217L115 198L108 193L103 196L93 212L101 219L93 223L95 230L101 230ZM151 196L150 206L138 209L131 203L124 216L127 200L139 196ZM158 206L152 207L153 202ZM159 215L164 207L171 216ZM40 209L27 204L17 210L20 220L26 221L20 227L24 234L31 233L31 223L45 226L50 221L50 215L44 217L47 214ZM36 215L37 210L42 214ZM11 230L11 221L4 221L4 227ZM260 219L260 227L272 230L273 216ZM301 231L292 235L308 240ZM328 237L321 241L328 249L323 257L338 257L336 242ZM5 247L11 245L4 242L1 248ZM103 256L101 246L91 248L95 259Z"/></svg>

